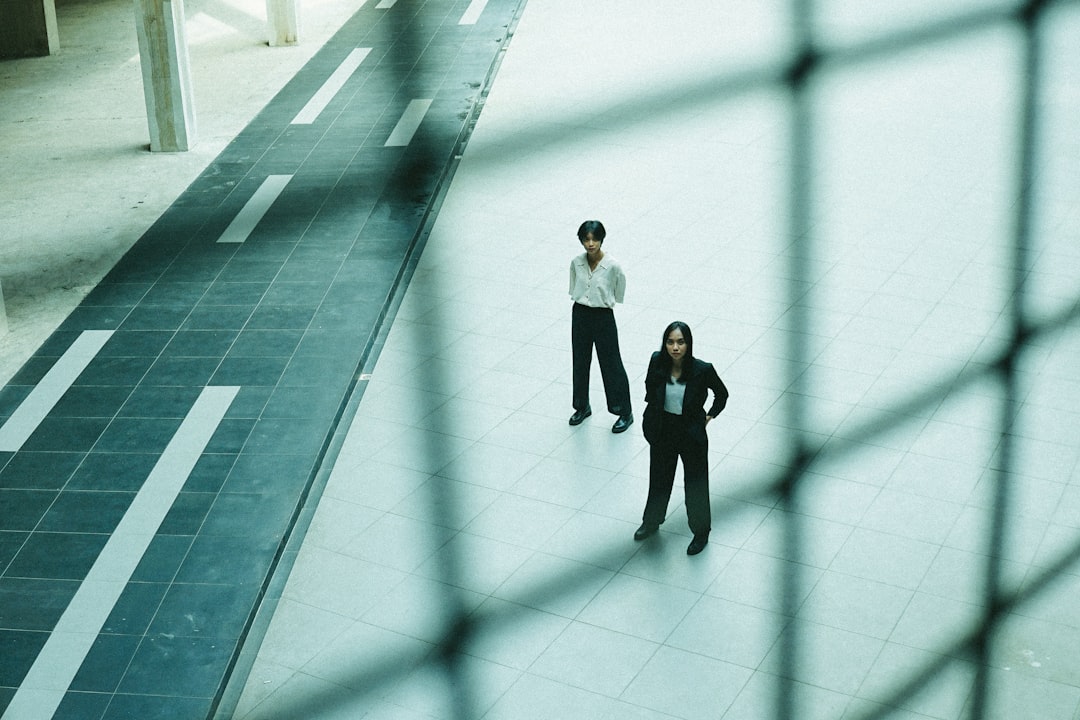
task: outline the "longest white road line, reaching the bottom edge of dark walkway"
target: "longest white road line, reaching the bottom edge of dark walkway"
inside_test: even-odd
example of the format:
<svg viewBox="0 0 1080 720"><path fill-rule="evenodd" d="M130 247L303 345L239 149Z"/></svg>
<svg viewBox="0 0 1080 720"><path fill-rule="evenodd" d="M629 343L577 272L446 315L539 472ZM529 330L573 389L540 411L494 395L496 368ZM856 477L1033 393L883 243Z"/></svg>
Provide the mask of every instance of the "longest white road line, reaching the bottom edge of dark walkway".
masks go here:
<svg viewBox="0 0 1080 720"><path fill-rule="evenodd" d="M204 388L49 635L2 720L50 720L239 388Z"/></svg>

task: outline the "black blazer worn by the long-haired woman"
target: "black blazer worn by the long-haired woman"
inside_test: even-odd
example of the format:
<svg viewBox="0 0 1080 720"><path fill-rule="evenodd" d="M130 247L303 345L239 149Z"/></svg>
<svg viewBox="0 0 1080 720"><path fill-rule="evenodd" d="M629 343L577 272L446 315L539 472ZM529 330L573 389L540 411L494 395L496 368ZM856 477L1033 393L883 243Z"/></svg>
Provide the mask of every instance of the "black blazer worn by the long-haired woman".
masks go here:
<svg viewBox="0 0 1080 720"><path fill-rule="evenodd" d="M671 380L660 365L660 353L652 353L649 370L645 373L645 415L642 417L642 432L650 444L660 432L660 420L664 413L664 395ZM683 368L679 380L686 385L683 395L683 415L689 423L690 436L701 445L708 444L705 434L705 416L715 418L728 404L728 389L725 386L716 368L711 363L693 358L690 367ZM705 412L705 400L708 391L713 391L713 405Z"/></svg>

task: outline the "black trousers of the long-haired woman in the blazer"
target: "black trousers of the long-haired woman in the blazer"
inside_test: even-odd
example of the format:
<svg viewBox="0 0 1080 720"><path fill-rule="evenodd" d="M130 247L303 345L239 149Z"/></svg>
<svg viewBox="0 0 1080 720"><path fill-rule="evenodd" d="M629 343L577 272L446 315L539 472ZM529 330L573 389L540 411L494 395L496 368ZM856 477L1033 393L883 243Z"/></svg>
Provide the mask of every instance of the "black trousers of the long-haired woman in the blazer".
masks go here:
<svg viewBox="0 0 1080 720"><path fill-rule="evenodd" d="M690 532L707 535L713 524L708 502L708 445L691 439L686 418L671 412L663 413L659 435L649 446L649 498L645 501L642 521L660 525L666 519L679 458L683 459L686 519Z"/></svg>

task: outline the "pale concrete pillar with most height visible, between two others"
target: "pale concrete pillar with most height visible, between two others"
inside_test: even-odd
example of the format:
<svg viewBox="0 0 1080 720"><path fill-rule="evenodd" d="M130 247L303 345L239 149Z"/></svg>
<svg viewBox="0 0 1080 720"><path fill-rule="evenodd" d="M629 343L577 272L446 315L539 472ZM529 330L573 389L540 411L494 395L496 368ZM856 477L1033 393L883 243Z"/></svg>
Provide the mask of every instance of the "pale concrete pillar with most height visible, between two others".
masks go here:
<svg viewBox="0 0 1080 720"><path fill-rule="evenodd" d="M135 0L135 29L150 150L178 152L195 144L184 0Z"/></svg>

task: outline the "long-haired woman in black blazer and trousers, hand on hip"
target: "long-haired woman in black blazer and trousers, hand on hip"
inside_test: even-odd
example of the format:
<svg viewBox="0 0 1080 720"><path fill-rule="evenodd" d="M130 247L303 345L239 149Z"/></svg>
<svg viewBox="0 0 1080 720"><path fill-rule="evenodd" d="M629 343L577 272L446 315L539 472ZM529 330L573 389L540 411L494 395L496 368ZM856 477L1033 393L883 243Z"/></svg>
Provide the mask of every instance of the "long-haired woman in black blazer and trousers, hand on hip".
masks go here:
<svg viewBox="0 0 1080 720"><path fill-rule="evenodd" d="M706 412L710 390L713 404ZM669 325L645 376L642 431L649 443L649 498L634 540L656 533L666 519L675 466L681 458L686 515L693 533L686 553L697 555L705 548L712 529L705 425L727 402L728 389L716 369L693 356L693 335L687 324L676 321Z"/></svg>

